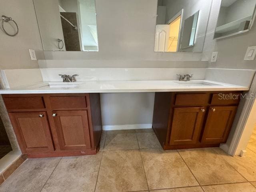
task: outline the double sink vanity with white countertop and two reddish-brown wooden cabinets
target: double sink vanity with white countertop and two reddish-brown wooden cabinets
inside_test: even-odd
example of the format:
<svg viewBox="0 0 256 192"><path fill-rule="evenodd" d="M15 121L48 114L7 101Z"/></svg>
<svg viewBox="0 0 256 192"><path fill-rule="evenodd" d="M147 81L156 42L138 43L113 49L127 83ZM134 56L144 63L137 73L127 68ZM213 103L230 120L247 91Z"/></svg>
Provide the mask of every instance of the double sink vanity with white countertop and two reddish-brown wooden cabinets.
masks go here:
<svg viewBox="0 0 256 192"><path fill-rule="evenodd" d="M30 158L96 154L100 93L155 92L152 128L164 150L219 146L240 94L208 80L40 82L0 90L22 153Z"/></svg>

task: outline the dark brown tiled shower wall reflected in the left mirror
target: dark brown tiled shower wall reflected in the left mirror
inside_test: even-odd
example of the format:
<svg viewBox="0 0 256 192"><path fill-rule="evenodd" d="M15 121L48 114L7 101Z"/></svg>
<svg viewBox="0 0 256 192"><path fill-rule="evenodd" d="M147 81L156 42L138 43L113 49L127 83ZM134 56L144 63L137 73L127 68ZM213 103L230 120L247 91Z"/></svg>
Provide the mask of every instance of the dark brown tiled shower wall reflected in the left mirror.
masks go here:
<svg viewBox="0 0 256 192"><path fill-rule="evenodd" d="M74 12L60 12L67 20L69 20L73 25L78 27L76 13ZM64 42L66 46L66 51L80 51L80 42L78 30L74 28L61 17L61 25L64 35Z"/></svg>

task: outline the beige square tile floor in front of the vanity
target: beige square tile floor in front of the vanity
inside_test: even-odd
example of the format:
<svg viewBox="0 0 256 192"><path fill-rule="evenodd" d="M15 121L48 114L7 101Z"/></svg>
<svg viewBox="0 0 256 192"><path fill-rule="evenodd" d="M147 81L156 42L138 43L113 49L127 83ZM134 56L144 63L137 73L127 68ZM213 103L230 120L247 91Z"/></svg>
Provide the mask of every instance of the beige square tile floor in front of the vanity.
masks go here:
<svg viewBox="0 0 256 192"><path fill-rule="evenodd" d="M152 131L104 131L92 156L26 160L0 192L256 192L256 142L246 157L220 148L162 150Z"/></svg>

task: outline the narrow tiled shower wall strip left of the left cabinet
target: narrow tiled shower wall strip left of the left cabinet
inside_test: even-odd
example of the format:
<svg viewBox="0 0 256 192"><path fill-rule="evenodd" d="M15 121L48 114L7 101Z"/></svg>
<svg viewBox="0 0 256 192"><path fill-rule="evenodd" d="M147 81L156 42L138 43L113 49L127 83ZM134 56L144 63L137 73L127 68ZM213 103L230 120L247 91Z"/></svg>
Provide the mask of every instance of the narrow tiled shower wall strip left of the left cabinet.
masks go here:
<svg viewBox="0 0 256 192"><path fill-rule="evenodd" d="M3 101L3 98L1 95L0 95L0 116L2 118L2 122L4 124L10 144L12 146L12 150L20 150L17 138L14 134L14 130L13 130L12 124L10 122L9 115L8 115L8 112L6 110L6 107L4 105L4 101Z"/></svg>

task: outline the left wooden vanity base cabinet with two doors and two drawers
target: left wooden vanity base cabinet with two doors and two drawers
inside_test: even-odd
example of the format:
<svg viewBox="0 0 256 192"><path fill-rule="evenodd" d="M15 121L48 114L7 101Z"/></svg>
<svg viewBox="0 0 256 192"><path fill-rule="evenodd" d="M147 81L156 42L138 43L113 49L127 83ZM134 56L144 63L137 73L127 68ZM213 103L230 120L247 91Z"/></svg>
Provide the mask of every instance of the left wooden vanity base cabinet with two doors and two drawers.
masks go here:
<svg viewBox="0 0 256 192"><path fill-rule="evenodd" d="M22 153L28 157L96 154L100 94L4 94Z"/></svg>

